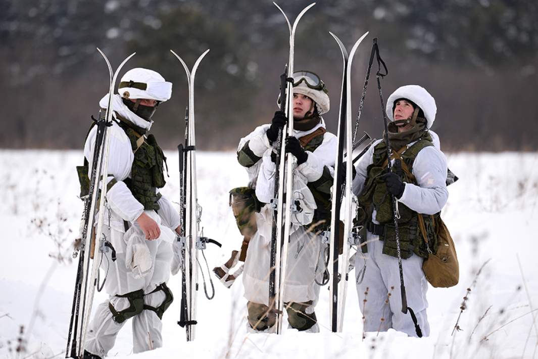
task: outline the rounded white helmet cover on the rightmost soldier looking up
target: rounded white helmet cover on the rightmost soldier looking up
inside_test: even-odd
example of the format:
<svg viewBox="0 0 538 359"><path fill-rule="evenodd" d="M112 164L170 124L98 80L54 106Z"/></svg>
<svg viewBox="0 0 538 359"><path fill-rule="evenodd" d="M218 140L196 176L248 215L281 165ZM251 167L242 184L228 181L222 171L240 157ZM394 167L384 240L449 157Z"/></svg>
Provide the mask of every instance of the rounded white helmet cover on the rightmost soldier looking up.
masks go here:
<svg viewBox="0 0 538 359"><path fill-rule="evenodd" d="M407 98L407 100L413 101L424 112L428 128L433 125L435 114L437 113L437 105L435 104L435 98L426 89L419 85L406 85L397 88L392 95L388 96L386 111L391 121L394 121L394 113L392 111L394 101L399 98Z"/></svg>

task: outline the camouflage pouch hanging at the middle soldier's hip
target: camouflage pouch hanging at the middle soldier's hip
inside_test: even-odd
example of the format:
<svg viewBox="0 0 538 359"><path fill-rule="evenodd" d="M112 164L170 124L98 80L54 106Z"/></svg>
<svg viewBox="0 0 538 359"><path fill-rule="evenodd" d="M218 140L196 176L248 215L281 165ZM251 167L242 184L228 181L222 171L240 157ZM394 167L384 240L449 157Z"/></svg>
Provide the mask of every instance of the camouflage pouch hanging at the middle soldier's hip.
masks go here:
<svg viewBox="0 0 538 359"><path fill-rule="evenodd" d="M260 212L263 203L256 198L254 189L237 187L230 191L230 206L232 207L233 216L236 219L237 228L239 228L240 233L244 236L241 245L241 254L239 255L239 261L244 262L250 238L258 230L254 213Z"/></svg>

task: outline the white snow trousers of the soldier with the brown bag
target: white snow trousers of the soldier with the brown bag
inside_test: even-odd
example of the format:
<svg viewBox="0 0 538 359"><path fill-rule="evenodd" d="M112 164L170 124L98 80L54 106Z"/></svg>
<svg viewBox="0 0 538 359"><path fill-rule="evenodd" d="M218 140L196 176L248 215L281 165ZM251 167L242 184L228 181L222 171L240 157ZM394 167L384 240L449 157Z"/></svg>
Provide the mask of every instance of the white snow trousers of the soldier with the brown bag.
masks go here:
<svg viewBox="0 0 538 359"><path fill-rule="evenodd" d="M404 314L401 311L398 258L383 254L383 241L379 241L379 236L370 232L367 236L367 248L366 254L359 251L355 262L357 278L366 258L364 279L362 283L357 284L360 311L365 318L364 331L386 332L389 328L394 328L409 336L417 336L409 312ZM430 334L426 315L428 281L422 271L422 262L421 257L413 254L407 259L402 259L402 269L407 305L415 312L422 335L428 336Z"/></svg>

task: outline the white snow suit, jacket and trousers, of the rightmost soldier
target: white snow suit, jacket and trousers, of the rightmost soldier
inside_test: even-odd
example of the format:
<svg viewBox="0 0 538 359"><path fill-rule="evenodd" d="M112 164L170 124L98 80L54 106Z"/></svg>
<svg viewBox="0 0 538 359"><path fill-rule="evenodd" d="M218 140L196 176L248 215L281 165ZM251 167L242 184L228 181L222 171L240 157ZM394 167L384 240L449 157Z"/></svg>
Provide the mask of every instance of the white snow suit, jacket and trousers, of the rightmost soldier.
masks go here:
<svg viewBox="0 0 538 359"><path fill-rule="evenodd" d="M416 156L412 173L418 186L406 183L404 193L399 202L417 213L433 215L441 211L448 200L447 159L440 150L438 136L429 131L434 146L424 147ZM359 195L363 189L367 175L367 167L372 164L374 147L378 140L364 154L356 166L357 175L353 179L353 193ZM414 143L414 142L413 142ZM409 148L413 143L410 143ZM372 222L376 221L376 211L372 214ZM413 321L409 314L401 312L400 273L398 258L383 254L383 242L379 236L367 233L367 253L360 251L356 256L357 293L360 309L365 317L365 332L386 332L394 328L409 336L416 336ZM365 262L366 259L366 262ZM402 259L407 304L413 308L423 336L429 335L429 324L426 315L428 301L426 291L428 282L422 271L423 259L412 254ZM365 268L364 280L360 281L360 270ZM390 297L388 296L390 293ZM388 298L388 304L385 300ZM383 319L383 320L382 320Z"/></svg>

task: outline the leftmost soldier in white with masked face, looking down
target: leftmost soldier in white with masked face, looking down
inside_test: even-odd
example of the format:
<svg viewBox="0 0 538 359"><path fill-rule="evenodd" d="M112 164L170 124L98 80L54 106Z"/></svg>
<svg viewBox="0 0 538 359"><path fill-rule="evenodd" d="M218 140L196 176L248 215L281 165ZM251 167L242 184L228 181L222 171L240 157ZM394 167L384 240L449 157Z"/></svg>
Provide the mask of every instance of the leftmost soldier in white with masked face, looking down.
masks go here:
<svg viewBox="0 0 538 359"><path fill-rule="evenodd" d="M162 314L173 300L166 281L173 257L177 258L172 243L180 234L180 217L159 193L165 185L165 157L155 137L147 135L158 105L172 94L172 83L150 69L133 68L121 79L118 93L110 102L108 94L100 101L101 108L111 103L114 111L108 130L103 235L117 259L111 251L102 254L104 287L110 297L96 308L88 326L84 358L89 359L107 355L129 318L134 353L161 347ZM96 128L89 131L84 145L88 161L94 158ZM88 169L79 170L79 175L87 178Z"/></svg>

